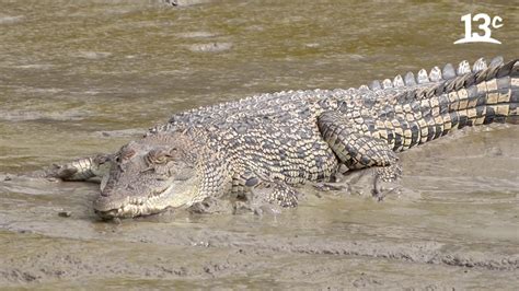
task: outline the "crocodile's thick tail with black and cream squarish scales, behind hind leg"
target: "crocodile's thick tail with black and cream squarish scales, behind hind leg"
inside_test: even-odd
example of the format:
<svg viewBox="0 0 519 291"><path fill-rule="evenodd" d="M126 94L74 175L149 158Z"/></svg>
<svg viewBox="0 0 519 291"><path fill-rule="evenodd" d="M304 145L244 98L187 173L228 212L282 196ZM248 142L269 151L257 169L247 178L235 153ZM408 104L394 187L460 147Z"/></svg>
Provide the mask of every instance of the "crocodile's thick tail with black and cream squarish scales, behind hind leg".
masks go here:
<svg viewBox="0 0 519 291"><path fill-rule="evenodd" d="M445 74L443 74L445 75ZM517 124L519 118L519 59L488 66L461 62L455 77L427 85L405 88L396 104L382 113L376 135L402 151L465 126Z"/></svg>

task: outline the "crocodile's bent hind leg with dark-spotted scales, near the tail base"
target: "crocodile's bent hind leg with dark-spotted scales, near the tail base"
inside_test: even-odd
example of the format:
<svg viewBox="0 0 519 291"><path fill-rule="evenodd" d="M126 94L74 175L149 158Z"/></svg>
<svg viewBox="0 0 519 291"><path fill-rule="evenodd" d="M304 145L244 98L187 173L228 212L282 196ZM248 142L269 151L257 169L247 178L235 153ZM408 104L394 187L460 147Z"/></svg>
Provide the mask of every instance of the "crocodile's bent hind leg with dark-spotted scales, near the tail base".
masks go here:
<svg viewBox="0 0 519 291"><path fill-rule="evenodd" d="M348 168L374 170L372 195L383 199L380 182L394 182L402 175L399 158L388 143L336 112L323 113L318 126L323 139Z"/></svg>

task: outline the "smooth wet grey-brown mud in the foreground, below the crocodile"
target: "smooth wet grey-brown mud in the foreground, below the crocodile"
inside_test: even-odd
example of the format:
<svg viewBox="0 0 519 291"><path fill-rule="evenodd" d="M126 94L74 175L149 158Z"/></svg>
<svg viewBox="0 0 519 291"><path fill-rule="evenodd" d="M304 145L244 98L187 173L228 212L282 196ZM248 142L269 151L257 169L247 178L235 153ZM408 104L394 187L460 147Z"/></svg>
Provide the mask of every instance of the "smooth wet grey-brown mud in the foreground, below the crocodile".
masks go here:
<svg viewBox="0 0 519 291"><path fill-rule="evenodd" d="M0 183L0 282L511 289L519 278L519 185L511 165L519 159L511 146L519 130L497 126L457 136L402 154L408 174L400 196L377 202L365 194L305 187L300 206L280 213L171 210L103 222L91 208L97 185L11 175ZM436 175L412 174L426 172L437 156L446 159ZM458 174L446 178L447 172Z"/></svg>

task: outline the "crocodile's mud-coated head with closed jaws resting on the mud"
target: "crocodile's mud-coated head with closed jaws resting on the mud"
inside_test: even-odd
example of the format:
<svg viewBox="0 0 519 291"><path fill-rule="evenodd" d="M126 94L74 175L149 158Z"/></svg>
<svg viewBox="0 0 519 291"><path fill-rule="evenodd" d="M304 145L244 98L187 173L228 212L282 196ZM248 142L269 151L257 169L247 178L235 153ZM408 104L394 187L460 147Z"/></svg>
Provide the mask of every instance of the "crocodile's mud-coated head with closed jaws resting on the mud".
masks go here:
<svg viewBox="0 0 519 291"><path fill-rule="evenodd" d="M157 133L124 146L101 183L94 210L103 219L132 218L197 201L193 142Z"/></svg>

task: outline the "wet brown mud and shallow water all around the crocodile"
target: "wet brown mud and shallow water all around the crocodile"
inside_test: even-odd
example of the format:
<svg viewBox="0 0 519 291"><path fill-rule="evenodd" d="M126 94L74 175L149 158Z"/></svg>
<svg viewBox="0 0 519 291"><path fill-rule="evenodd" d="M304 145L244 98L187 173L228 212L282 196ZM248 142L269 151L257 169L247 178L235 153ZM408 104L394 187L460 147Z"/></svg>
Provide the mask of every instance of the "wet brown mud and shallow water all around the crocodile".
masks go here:
<svg viewBox="0 0 519 291"><path fill-rule="evenodd" d="M195 106L519 57L517 1L278 2L0 1L0 173L114 151ZM505 20L503 44L452 45L478 12ZM402 195L308 189L276 216L104 223L94 184L2 181L0 288L514 289L518 140L463 130L401 154Z"/></svg>

